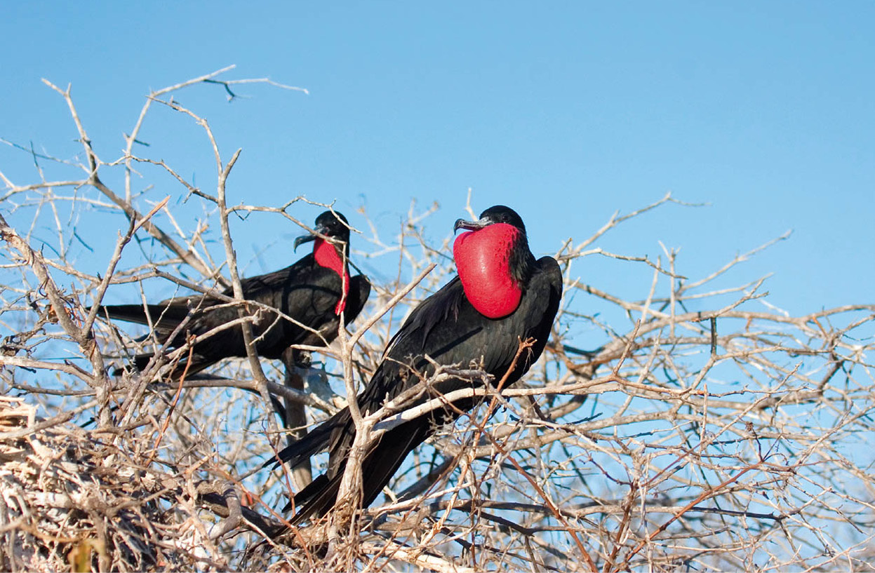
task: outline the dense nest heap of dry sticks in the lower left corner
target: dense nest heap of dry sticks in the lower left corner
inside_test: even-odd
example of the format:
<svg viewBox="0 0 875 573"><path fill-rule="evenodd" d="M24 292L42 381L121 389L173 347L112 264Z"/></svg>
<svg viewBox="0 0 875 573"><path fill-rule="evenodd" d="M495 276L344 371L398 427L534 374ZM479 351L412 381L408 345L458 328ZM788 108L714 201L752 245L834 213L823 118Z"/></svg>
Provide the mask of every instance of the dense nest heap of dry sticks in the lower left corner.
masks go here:
<svg viewBox="0 0 875 573"><path fill-rule="evenodd" d="M235 494L155 466L118 432L49 425L0 396L0 570L227 568L215 543Z"/></svg>

